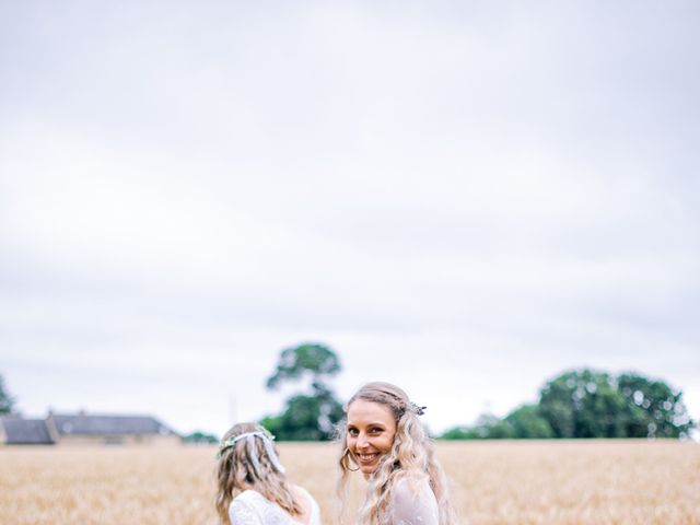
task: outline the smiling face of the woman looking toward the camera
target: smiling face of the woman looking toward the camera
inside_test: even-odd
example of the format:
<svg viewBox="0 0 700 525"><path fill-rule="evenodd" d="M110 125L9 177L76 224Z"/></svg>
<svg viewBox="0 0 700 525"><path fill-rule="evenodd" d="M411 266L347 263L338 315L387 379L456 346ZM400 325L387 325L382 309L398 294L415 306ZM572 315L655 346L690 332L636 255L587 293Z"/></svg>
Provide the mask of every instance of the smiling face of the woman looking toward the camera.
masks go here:
<svg viewBox="0 0 700 525"><path fill-rule="evenodd" d="M352 459L362 472L372 474L394 444L396 420L392 410L378 402L355 399L348 407L347 429Z"/></svg>

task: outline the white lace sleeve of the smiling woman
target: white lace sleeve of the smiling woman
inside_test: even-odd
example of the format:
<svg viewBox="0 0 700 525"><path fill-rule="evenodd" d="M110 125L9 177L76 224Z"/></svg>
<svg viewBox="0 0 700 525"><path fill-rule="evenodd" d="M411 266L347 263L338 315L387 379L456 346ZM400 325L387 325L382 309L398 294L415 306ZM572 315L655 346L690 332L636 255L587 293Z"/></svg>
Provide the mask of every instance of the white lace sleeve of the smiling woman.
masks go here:
<svg viewBox="0 0 700 525"><path fill-rule="evenodd" d="M394 488L389 509L392 525L438 525L438 501L428 480L401 479Z"/></svg>

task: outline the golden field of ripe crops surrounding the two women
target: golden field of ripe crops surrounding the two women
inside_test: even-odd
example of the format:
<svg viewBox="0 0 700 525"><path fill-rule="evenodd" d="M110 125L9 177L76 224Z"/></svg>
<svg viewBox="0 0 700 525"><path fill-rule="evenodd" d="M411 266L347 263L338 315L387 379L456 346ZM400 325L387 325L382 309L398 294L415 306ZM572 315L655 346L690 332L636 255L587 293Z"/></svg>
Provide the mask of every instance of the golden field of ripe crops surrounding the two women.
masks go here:
<svg viewBox="0 0 700 525"><path fill-rule="evenodd" d="M334 523L335 445L279 447ZM440 443L439 454L464 524L700 524L698 444ZM0 448L0 523L214 524L213 456L185 446Z"/></svg>

